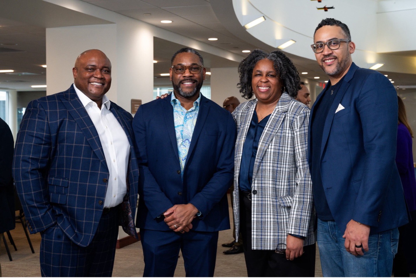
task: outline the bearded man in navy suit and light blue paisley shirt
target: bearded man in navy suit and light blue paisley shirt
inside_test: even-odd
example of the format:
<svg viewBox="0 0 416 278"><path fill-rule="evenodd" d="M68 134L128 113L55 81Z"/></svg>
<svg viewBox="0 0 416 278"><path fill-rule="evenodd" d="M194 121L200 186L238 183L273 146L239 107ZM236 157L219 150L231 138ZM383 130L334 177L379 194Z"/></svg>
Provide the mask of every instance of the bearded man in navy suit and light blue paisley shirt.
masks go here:
<svg viewBox="0 0 416 278"><path fill-rule="evenodd" d="M141 105L133 120L143 276L173 277L181 249L186 276L212 277L218 231L230 229L235 123L200 93L196 50L180 49L171 62L173 93Z"/></svg>

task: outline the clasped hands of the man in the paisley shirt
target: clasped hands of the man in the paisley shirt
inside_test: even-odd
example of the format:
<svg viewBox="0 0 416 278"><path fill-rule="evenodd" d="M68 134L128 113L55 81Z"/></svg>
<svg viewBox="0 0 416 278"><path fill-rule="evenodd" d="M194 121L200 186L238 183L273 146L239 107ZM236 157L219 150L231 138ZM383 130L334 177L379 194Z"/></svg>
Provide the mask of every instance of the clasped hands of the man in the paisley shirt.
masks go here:
<svg viewBox="0 0 416 278"><path fill-rule="evenodd" d="M164 213L164 221L173 231L182 232L197 213L198 209L193 204L176 204Z"/></svg>

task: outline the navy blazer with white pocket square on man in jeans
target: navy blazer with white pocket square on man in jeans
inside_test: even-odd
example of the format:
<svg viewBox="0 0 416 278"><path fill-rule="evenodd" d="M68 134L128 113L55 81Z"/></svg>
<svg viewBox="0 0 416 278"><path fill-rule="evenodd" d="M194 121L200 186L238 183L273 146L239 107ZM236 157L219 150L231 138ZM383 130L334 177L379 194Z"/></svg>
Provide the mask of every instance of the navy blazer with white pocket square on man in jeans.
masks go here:
<svg viewBox="0 0 416 278"><path fill-rule="evenodd" d="M370 234L404 225L406 205L395 163L394 86L379 72L354 63L340 82L324 123L320 153L322 184L332 216L342 231L351 219L371 226ZM322 95L312 106L310 123ZM339 105L344 108L337 111ZM310 152L308 160L312 166Z"/></svg>

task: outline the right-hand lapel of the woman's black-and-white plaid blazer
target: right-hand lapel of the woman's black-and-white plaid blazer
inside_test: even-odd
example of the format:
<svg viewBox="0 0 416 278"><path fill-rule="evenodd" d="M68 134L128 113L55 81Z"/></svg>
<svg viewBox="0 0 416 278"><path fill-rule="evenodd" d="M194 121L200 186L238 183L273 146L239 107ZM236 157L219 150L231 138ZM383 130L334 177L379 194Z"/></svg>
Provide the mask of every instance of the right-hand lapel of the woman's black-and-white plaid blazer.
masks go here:
<svg viewBox="0 0 416 278"><path fill-rule="evenodd" d="M254 162L253 168L253 180L257 174L260 162L262 161L263 156L267 151L267 148L269 147L272 140L275 138L277 131L280 129L280 126L286 118L290 100L291 98L289 95L287 95L286 93L282 93L282 96L280 96L275 109L273 110L269 120L267 121L267 124L260 137L257 149L256 160Z"/></svg>

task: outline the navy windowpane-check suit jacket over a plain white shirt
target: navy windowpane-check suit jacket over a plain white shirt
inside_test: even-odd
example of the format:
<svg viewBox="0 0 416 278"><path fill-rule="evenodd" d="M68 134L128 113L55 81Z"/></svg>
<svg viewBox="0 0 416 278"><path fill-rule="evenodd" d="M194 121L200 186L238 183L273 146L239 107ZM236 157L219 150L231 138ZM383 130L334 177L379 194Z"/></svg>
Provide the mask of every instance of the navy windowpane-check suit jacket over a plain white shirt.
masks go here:
<svg viewBox="0 0 416 278"><path fill-rule="evenodd" d="M134 216L139 173L132 117L113 102L110 111L131 145L129 195L120 208L130 207ZM109 170L97 130L73 86L28 104L17 134L13 173L30 233L57 224L75 244L89 245L103 212ZM120 223L125 231L134 223L131 214L120 209L120 219L130 215L130 224Z"/></svg>

